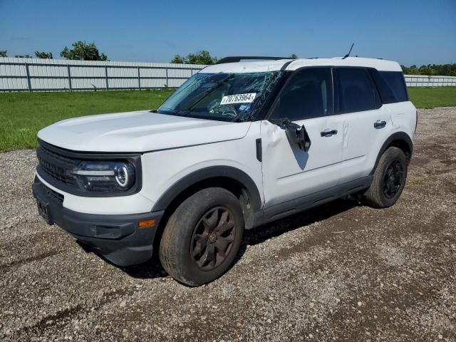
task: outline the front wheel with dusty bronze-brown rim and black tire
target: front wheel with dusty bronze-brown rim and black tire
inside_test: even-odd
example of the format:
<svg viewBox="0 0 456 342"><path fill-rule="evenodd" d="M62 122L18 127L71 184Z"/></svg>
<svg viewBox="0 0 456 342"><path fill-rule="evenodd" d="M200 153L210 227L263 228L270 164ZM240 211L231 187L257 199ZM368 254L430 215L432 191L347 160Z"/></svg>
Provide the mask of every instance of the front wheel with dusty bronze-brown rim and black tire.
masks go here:
<svg viewBox="0 0 456 342"><path fill-rule="evenodd" d="M185 199L171 215L160 241L160 261L182 284L207 284L229 269L243 232L239 200L227 190L209 187Z"/></svg>

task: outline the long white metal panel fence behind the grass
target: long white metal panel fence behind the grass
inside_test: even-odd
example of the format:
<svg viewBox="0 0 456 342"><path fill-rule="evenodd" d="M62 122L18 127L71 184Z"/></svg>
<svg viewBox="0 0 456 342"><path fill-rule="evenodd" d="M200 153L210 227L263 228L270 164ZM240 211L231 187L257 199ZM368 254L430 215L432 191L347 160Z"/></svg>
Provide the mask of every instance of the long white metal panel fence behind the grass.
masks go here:
<svg viewBox="0 0 456 342"><path fill-rule="evenodd" d="M171 63L0 57L0 92L177 88L202 68ZM456 86L456 77L405 75L405 82L409 87Z"/></svg>

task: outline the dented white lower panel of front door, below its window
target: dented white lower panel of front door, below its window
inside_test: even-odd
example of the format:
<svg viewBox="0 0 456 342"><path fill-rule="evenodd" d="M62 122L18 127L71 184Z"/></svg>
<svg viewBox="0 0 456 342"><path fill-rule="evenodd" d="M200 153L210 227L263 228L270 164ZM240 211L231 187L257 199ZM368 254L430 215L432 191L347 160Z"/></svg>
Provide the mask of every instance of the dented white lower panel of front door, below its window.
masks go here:
<svg viewBox="0 0 456 342"><path fill-rule="evenodd" d="M304 125L311 140L300 150L286 131L267 120L261 123L265 207L337 185L342 160L343 121L339 115L294 121ZM331 136L321 136L336 130Z"/></svg>

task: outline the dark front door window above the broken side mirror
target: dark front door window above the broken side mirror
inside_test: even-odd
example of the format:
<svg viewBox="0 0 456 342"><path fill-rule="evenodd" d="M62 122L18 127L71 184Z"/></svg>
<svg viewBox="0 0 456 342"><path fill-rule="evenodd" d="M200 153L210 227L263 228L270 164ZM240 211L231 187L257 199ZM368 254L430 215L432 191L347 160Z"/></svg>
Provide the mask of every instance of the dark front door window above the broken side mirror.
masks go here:
<svg viewBox="0 0 456 342"><path fill-rule="evenodd" d="M331 115L332 94L331 68L304 69L281 91L271 118L296 121Z"/></svg>

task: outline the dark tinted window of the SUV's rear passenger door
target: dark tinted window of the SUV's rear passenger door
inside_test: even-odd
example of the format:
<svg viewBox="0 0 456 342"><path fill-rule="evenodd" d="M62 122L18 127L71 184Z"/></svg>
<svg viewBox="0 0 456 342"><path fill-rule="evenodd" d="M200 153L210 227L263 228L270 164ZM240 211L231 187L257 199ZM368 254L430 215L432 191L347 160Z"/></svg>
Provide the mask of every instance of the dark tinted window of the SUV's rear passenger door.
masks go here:
<svg viewBox="0 0 456 342"><path fill-rule="evenodd" d="M380 108L380 98L365 68L338 68L335 71L336 113Z"/></svg>

